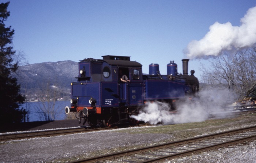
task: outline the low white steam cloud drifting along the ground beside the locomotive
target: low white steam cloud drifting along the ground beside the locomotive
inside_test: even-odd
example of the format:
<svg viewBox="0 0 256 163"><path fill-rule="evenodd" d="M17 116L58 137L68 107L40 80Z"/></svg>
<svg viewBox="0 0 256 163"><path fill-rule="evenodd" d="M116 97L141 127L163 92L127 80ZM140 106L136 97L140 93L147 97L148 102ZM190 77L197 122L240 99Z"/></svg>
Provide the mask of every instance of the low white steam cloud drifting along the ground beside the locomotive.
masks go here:
<svg viewBox="0 0 256 163"><path fill-rule="evenodd" d="M225 117L221 104L231 101L228 90L208 89L200 92L200 97L194 101L182 99L176 104L176 113L170 112L170 106L162 102L148 102L138 115L132 115L138 121L150 124L181 124L188 122L202 122L209 118L211 112L219 113L219 117Z"/></svg>

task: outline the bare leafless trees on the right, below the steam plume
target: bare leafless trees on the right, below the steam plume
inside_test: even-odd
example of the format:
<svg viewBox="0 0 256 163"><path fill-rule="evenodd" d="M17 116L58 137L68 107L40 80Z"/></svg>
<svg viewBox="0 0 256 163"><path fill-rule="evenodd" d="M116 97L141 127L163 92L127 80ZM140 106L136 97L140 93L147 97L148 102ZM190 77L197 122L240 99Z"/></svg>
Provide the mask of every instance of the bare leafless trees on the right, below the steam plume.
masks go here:
<svg viewBox="0 0 256 163"><path fill-rule="evenodd" d="M210 68L201 65L203 83L226 86L236 99L256 95L256 48L234 55L224 54L210 59Z"/></svg>

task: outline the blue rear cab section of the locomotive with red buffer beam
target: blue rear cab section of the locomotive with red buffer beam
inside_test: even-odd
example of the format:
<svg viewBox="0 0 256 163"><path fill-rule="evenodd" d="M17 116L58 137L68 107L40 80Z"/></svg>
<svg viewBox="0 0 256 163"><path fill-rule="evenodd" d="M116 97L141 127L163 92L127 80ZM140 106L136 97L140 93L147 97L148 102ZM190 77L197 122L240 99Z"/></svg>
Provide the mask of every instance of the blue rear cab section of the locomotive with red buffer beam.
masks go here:
<svg viewBox="0 0 256 163"><path fill-rule="evenodd" d="M66 107L66 113L76 112L80 122L83 118L91 126L128 122L127 113L143 105L142 65L125 56L102 57L79 62L78 80L71 83L71 108ZM121 81L123 75L129 82Z"/></svg>

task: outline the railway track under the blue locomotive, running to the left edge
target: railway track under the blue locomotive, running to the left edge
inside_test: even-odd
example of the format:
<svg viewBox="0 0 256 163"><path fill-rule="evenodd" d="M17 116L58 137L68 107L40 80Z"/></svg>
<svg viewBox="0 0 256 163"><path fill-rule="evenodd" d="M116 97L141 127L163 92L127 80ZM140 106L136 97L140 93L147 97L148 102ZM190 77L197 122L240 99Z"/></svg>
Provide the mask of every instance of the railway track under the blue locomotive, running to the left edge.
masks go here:
<svg viewBox="0 0 256 163"><path fill-rule="evenodd" d="M150 124L138 124L138 125L129 125L129 126L147 126L147 125L150 125ZM129 127L129 126L123 126L123 127ZM35 137L59 136L59 135L65 135L65 134L84 133L84 132L92 132L92 131L100 131L100 130L112 130L117 128L118 127L90 129L89 127L78 127L78 128L69 128L69 129L53 129L53 130L21 132L21 133L13 133L13 134L0 134L0 141L30 139Z"/></svg>

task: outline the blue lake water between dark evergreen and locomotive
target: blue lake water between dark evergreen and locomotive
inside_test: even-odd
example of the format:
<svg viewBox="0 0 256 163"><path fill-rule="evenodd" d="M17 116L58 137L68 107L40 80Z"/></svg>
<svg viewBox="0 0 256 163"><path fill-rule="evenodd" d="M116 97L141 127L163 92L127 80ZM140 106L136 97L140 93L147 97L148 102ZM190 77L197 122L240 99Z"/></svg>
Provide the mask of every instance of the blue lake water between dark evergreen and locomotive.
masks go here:
<svg viewBox="0 0 256 163"><path fill-rule="evenodd" d="M70 101L26 102L20 106L28 112L26 122L65 120L65 107L70 107Z"/></svg>

